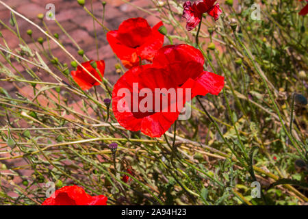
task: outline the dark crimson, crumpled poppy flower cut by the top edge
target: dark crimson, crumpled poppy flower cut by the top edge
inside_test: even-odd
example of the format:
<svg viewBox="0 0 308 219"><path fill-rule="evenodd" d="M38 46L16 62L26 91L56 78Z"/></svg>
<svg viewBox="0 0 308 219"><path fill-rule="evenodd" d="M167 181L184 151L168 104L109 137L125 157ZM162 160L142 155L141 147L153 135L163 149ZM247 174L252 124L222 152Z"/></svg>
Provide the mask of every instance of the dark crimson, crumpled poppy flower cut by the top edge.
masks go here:
<svg viewBox="0 0 308 219"><path fill-rule="evenodd" d="M198 0L193 4L190 1L186 1L183 4L183 18L186 18L186 29L188 31L194 29L198 23L200 23L202 14L207 13L214 17L215 21L218 20L222 10L219 8L219 4L215 4L216 0Z"/></svg>

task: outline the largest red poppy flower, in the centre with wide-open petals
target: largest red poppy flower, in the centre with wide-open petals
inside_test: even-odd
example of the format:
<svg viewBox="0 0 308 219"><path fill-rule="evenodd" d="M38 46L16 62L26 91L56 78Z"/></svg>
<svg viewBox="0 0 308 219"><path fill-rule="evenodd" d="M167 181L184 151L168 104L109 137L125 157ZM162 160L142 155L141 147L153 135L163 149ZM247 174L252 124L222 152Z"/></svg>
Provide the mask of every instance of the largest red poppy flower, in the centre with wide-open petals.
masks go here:
<svg viewBox="0 0 308 219"><path fill-rule="evenodd" d="M118 123L152 138L162 136L177 120L186 101L196 95L217 95L222 90L224 77L203 71L204 62L198 49L179 44L159 49L153 64L128 70L112 93Z"/></svg>

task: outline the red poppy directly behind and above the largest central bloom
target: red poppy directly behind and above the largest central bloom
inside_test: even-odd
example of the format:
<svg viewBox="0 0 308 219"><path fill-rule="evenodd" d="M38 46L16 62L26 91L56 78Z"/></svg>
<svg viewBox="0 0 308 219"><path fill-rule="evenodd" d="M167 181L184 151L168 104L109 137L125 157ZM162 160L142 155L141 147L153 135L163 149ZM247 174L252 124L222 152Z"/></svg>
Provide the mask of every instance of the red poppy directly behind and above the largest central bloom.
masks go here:
<svg viewBox="0 0 308 219"><path fill-rule="evenodd" d="M107 40L123 65L132 68L139 65L140 59L152 62L157 50L162 48L164 35L158 31L162 25L159 22L151 28L144 18L129 18L118 30L109 31Z"/></svg>

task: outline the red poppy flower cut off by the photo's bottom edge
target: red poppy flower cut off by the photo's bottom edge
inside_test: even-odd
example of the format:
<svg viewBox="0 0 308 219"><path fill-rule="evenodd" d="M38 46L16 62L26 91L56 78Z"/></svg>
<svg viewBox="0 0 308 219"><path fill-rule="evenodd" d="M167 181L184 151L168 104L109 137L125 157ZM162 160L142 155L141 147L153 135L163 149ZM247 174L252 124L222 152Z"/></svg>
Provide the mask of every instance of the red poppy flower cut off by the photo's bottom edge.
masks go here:
<svg viewBox="0 0 308 219"><path fill-rule="evenodd" d="M77 185L64 186L56 190L42 205L107 205L107 197L90 196Z"/></svg>

